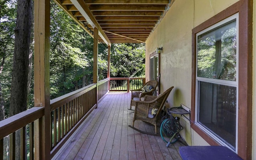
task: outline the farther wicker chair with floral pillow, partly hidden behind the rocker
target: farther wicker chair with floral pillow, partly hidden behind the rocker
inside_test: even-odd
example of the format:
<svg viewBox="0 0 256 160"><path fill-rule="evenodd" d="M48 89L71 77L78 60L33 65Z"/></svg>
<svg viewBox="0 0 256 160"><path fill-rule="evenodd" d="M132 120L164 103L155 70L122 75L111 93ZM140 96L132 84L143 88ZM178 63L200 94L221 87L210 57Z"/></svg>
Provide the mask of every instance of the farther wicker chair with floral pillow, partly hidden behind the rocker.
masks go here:
<svg viewBox="0 0 256 160"><path fill-rule="evenodd" d="M153 88L149 92L142 92L142 88L144 88L144 86L152 86ZM142 86L142 88L137 89L137 90L131 90L132 98L131 98L130 109L128 109L128 110L132 110L132 106L135 106L135 101L143 100L146 95L152 96L154 91L156 90L157 86L158 86L158 82L156 80L150 80L150 81L146 82Z"/></svg>

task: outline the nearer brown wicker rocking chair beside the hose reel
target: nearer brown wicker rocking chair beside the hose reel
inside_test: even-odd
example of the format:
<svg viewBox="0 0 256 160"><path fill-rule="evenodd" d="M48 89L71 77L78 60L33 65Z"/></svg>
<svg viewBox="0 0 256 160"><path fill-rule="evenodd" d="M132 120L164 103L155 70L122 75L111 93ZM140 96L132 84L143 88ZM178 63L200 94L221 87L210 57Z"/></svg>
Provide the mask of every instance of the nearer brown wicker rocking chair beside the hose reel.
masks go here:
<svg viewBox="0 0 256 160"><path fill-rule="evenodd" d="M144 134L157 134L157 122L161 119L161 111L162 107L164 106L164 103L166 102L166 99L168 98L170 92L172 91L172 88L169 88L164 93L159 94L158 96L145 96L144 101L136 101L135 102L135 111L134 111L134 117L132 121L132 126L129 125L129 127L133 128L134 130L137 130ZM157 113L153 116L151 114L151 111L153 108L157 108ZM147 122L150 124L153 124L155 126L155 133L148 133L141 131L137 128L134 128L134 122L136 120L142 120L143 122Z"/></svg>

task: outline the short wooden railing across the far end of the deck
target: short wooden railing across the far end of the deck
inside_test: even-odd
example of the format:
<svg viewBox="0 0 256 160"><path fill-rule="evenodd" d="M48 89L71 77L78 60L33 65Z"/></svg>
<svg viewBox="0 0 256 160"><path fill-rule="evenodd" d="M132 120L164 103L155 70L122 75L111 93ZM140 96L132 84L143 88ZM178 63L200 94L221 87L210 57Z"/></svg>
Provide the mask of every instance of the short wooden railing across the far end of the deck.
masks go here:
<svg viewBox="0 0 256 160"><path fill-rule="evenodd" d="M145 84L145 78L109 78L110 91L127 91L139 89Z"/></svg>

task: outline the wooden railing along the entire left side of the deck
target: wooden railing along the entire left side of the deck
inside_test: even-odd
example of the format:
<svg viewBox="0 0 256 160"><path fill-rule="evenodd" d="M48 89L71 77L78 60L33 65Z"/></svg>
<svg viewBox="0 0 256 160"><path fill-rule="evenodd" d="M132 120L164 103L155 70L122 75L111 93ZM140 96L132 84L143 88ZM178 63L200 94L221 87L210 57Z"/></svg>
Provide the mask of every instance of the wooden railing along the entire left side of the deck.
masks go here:
<svg viewBox="0 0 256 160"><path fill-rule="evenodd" d="M108 92L109 79L101 80L98 84L91 84L74 92L50 100L51 111L51 157L53 157L63 144L70 138L84 119L97 107L97 102ZM97 93L98 91L98 93ZM98 94L98 96L97 96ZM98 100L97 100L98 97ZM15 159L16 131L20 130L20 158L34 159L34 146L40 143L40 136L34 136L34 121L42 122L44 107L34 107L0 121L0 160L3 160L4 137L9 136L9 158ZM41 123L42 124L42 123ZM40 132L40 131L39 131ZM29 137L29 138L27 138ZM35 142L36 141L36 142ZM28 142L28 143L27 143ZM36 144L39 146L40 144ZM32 152L31 152L32 151Z"/></svg>

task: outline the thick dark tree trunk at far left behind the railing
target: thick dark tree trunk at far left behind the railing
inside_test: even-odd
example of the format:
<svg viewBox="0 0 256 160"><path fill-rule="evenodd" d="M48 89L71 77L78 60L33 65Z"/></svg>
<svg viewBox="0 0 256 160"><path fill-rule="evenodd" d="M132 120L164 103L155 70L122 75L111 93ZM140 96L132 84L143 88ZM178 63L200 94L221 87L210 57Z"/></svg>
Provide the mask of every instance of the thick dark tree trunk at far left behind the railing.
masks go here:
<svg viewBox="0 0 256 160"><path fill-rule="evenodd" d="M10 116L27 108L28 64L32 21L32 0L18 0L14 42ZM20 159L20 132L16 132L16 153Z"/></svg>

